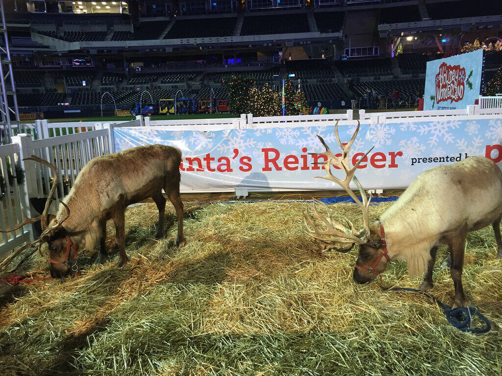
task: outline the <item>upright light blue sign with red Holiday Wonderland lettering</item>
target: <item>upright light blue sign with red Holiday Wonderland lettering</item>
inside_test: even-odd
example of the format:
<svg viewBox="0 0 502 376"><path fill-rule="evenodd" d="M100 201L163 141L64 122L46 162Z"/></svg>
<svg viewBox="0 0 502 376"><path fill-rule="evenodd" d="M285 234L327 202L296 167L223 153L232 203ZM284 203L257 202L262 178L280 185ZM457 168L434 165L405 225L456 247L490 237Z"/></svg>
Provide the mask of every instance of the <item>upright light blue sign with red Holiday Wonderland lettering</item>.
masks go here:
<svg viewBox="0 0 502 376"><path fill-rule="evenodd" d="M427 62L424 110L456 110L479 98L483 50Z"/></svg>

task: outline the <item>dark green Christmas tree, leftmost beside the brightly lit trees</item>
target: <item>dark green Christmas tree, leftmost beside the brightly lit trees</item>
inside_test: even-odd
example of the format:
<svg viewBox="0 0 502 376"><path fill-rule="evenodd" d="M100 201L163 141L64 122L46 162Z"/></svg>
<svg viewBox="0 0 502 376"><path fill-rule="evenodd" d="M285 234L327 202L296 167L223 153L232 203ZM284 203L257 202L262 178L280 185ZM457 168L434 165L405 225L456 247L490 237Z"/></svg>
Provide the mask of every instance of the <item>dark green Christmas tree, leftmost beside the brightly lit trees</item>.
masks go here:
<svg viewBox="0 0 502 376"><path fill-rule="evenodd" d="M233 115L250 113L254 107L252 91L255 88L255 80L250 77L233 75L223 80L228 90L228 105Z"/></svg>

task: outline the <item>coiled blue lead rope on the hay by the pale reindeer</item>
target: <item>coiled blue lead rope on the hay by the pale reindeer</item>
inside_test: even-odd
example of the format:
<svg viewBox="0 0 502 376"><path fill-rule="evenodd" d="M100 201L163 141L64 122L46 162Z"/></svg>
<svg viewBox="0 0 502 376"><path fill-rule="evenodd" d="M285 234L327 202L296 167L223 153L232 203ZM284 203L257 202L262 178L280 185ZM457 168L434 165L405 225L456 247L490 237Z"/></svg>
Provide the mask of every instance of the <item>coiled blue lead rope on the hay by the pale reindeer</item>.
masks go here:
<svg viewBox="0 0 502 376"><path fill-rule="evenodd" d="M452 324L457 329L462 330L467 333L486 333L491 329L490 321L484 317L476 307L469 306L468 308L460 307L460 308L451 308L450 306L444 304L441 300L435 298L434 296L417 289L411 289L407 287L392 287L389 289L383 289L384 291L411 291L411 292L420 292L432 299L437 305L443 308L443 312L446 315L446 319L450 324ZM484 328L473 329L472 328L472 319L478 316L481 320L483 320L486 324Z"/></svg>

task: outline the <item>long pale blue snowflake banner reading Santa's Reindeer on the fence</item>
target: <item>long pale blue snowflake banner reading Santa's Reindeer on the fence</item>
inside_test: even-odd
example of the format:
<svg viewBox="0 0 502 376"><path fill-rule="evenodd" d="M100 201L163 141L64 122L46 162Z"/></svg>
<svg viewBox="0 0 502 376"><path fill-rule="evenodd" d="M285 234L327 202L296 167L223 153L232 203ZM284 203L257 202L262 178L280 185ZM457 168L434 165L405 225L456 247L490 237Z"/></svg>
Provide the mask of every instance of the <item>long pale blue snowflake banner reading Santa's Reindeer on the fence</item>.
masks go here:
<svg viewBox="0 0 502 376"><path fill-rule="evenodd" d="M356 125L340 125L342 142L350 139ZM337 154L334 126L271 127L218 131L169 130L169 127L114 128L115 150L148 144L181 149L183 192L224 192L235 187L250 189L319 190L339 189L313 164L324 151L321 135ZM359 164L356 176L366 189L407 187L422 171L450 164L472 155L490 157L502 165L502 119L442 120L361 124L350 161ZM339 154L340 155L340 154ZM343 177L340 170L333 173Z"/></svg>

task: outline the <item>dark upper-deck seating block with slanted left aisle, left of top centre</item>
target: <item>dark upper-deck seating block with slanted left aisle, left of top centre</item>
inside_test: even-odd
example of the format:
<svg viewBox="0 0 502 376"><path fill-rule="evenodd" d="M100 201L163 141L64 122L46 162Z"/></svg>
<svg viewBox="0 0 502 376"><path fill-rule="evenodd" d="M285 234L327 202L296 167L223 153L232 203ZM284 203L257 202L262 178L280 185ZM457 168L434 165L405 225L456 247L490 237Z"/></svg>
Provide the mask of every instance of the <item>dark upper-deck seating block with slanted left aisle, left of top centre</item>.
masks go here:
<svg viewBox="0 0 502 376"><path fill-rule="evenodd" d="M230 36L236 23L236 17L176 20L164 39Z"/></svg>

